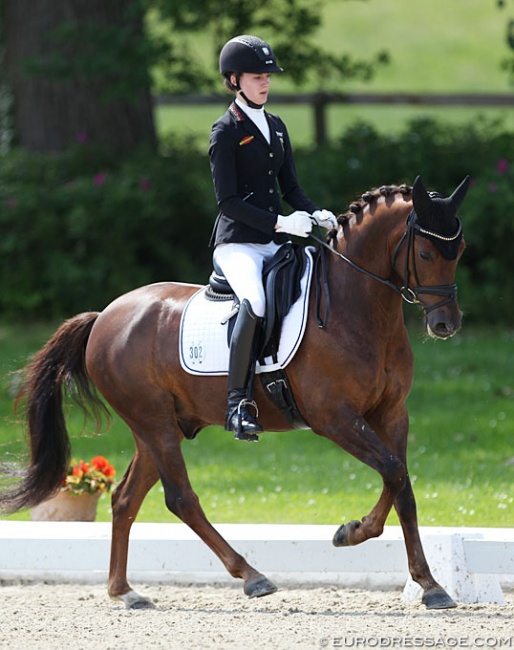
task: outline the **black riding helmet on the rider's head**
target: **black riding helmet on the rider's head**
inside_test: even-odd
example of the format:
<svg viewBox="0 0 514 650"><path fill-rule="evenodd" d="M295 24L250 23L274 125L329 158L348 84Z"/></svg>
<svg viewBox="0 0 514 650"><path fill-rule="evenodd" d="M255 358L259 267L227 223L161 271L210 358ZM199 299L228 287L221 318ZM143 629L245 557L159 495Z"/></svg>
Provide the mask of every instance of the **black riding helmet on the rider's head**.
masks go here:
<svg viewBox="0 0 514 650"><path fill-rule="evenodd" d="M263 74L282 72L271 47L257 36L235 36L223 46L220 52L220 72Z"/></svg>

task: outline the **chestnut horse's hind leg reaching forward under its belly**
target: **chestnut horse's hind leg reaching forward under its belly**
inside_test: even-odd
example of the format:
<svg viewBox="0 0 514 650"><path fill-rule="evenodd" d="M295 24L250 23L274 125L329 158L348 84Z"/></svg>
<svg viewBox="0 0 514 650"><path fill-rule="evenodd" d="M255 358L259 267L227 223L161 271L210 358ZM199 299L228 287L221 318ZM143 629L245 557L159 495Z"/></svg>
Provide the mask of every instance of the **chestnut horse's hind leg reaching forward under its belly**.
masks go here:
<svg viewBox="0 0 514 650"><path fill-rule="evenodd" d="M208 521L189 482L180 445L163 450L158 466L168 509L207 544L232 577L244 580L245 594L254 598L274 593L276 586L236 553Z"/></svg>

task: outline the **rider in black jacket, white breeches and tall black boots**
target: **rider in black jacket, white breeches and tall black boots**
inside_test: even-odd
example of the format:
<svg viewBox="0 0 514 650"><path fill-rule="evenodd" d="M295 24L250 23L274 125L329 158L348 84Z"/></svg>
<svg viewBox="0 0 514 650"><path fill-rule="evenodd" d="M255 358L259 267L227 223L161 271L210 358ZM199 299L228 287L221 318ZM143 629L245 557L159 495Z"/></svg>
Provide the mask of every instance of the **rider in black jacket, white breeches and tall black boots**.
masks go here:
<svg viewBox="0 0 514 650"><path fill-rule="evenodd" d="M240 302L230 343L225 429L238 440L257 441L263 429L252 400L252 379L265 313L263 264L289 241L288 235L308 237L313 223L332 228L337 222L298 184L286 126L264 110L271 74L282 72L271 47L255 36L236 36L222 48L219 69L235 99L211 132L209 155L219 206L211 242L214 264ZM281 198L294 209L289 216L282 214Z"/></svg>

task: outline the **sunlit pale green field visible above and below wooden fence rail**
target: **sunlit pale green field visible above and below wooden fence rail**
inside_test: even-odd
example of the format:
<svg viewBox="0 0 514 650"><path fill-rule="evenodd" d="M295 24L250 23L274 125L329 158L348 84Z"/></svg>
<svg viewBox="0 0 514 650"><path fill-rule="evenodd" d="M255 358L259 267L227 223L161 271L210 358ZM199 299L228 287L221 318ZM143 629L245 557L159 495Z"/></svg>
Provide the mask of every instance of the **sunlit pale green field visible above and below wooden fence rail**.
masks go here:
<svg viewBox="0 0 514 650"><path fill-rule="evenodd" d="M361 81L311 82L303 92L318 89L340 92L373 91L403 93L510 93L512 85L500 69L509 55L504 33L506 11L494 2L448 2L431 0L370 0L369 2L329 0L317 40L337 53L368 57L388 50L391 64L382 68L370 83ZM268 38L266 34L263 37ZM196 39L198 55L216 62L210 53L210 40ZM221 90L221 84L220 84ZM281 106L273 102L276 92L294 92L287 77L273 78L268 109L284 118L296 146L313 142L312 109L306 106ZM159 106L157 128L161 136L186 133L198 137L198 145L208 146L210 127L224 106ZM450 123L468 123L484 116L501 119L514 127L514 111L505 108L423 106L341 106L329 109L328 133L338 137L350 124L362 119L382 132L402 130L407 121L429 116Z"/></svg>

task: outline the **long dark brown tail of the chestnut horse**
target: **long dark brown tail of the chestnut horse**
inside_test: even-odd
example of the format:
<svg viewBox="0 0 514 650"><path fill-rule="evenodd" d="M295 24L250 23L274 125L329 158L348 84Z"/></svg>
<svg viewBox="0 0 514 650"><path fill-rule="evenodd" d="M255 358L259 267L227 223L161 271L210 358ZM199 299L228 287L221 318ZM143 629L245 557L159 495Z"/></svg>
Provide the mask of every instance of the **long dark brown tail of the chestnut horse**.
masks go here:
<svg viewBox="0 0 514 650"><path fill-rule="evenodd" d="M1 468L4 477L16 476L14 487L0 494L0 510L16 512L51 496L65 478L70 462L70 441L63 399L72 396L80 408L100 425L107 412L87 374L86 344L98 312L78 314L65 321L46 345L20 372L16 397L25 404L31 462L25 470Z"/></svg>

